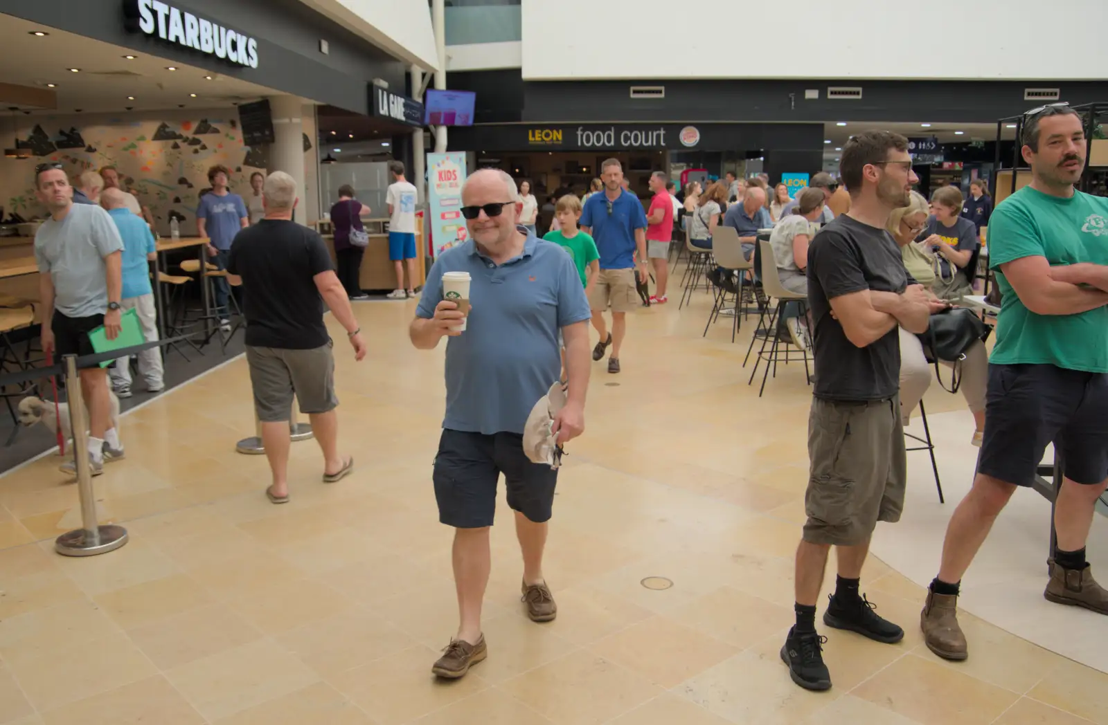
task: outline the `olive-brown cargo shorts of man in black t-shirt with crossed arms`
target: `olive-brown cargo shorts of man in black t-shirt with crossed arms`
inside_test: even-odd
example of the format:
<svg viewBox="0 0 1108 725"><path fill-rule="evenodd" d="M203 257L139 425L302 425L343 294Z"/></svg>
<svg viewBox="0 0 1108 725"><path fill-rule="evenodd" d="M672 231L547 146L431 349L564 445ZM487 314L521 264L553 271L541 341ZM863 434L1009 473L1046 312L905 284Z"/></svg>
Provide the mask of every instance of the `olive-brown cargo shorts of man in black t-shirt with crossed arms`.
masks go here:
<svg viewBox="0 0 1108 725"><path fill-rule="evenodd" d="M907 457L897 397L812 398L808 456L804 541L854 546L870 539L878 521L900 520Z"/></svg>

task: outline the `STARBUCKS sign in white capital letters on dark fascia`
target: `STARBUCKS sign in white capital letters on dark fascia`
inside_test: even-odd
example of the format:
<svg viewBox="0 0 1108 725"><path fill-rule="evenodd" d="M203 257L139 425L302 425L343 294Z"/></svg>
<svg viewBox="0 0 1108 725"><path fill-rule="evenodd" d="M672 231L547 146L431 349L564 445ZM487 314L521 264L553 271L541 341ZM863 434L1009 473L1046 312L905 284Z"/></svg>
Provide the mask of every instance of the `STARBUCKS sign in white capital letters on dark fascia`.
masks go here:
<svg viewBox="0 0 1108 725"><path fill-rule="evenodd" d="M162 0L124 0L123 12L129 30L247 68L258 66L258 41L237 30Z"/></svg>

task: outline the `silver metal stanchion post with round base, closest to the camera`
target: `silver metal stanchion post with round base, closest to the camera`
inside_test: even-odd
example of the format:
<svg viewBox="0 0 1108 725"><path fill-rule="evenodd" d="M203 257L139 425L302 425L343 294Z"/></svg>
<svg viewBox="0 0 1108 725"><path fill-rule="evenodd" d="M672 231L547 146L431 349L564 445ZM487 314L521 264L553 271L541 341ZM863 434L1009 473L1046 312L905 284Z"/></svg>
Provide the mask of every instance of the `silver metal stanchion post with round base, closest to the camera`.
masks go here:
<svg viewBox="0 0 1108 725"><path fill-rule="evenodd" d="M70 405L70 424L73 429L73 455L76 462L76 489L81 498L81 526L63 534L54 541L58 553L66 557L92 557L114 551L127 542L127 530L122 526L96 521L96 497L92 490L92 469L89 467L89 433L84 429L84 398L81 379L76 372L76 355L65 355L65 396Z"/></svg>

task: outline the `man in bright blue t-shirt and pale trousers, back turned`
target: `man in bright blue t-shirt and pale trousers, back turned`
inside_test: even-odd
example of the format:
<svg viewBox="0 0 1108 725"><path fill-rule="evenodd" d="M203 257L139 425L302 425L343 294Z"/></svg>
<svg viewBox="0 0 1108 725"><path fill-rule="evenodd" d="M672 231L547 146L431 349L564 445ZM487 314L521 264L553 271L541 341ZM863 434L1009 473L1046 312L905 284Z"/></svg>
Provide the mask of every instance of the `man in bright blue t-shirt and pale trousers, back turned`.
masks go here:
<svg viewBox="0 0 1108 725"><path fill-rule="evenodd" d="M138 315L146 342L157 340L157 305L150 283L150 263L157 259L154 235L146 221L127 206L127 195L119 188L106 188L100 195L100 203L120 230L123 239L123 300L124 310L133 309ZM146 391L161 392L162 350L151 348L138 353L138 374L146 381ZM112 389L120 397L131 397L131 359L120 358L110 373Z"/></svg>

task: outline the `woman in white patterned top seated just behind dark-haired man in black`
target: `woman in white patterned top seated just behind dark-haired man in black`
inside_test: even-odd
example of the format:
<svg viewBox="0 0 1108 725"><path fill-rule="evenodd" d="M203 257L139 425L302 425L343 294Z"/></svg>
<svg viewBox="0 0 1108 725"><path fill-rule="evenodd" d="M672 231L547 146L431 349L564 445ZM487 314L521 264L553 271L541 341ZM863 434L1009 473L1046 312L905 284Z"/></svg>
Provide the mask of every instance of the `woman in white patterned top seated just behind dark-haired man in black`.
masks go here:
<svg viewBox="0 0 1108 725"><path fill-rule="evenodd" d="M807 188L797 195L799 204L773 226L769 236L781 287L790 292L808 293L808 242L811 224L823 218L823 189ZM792 343L801 350L811 348L811 321L799 317L799 304L789 303L782 317Z"/></svg>

